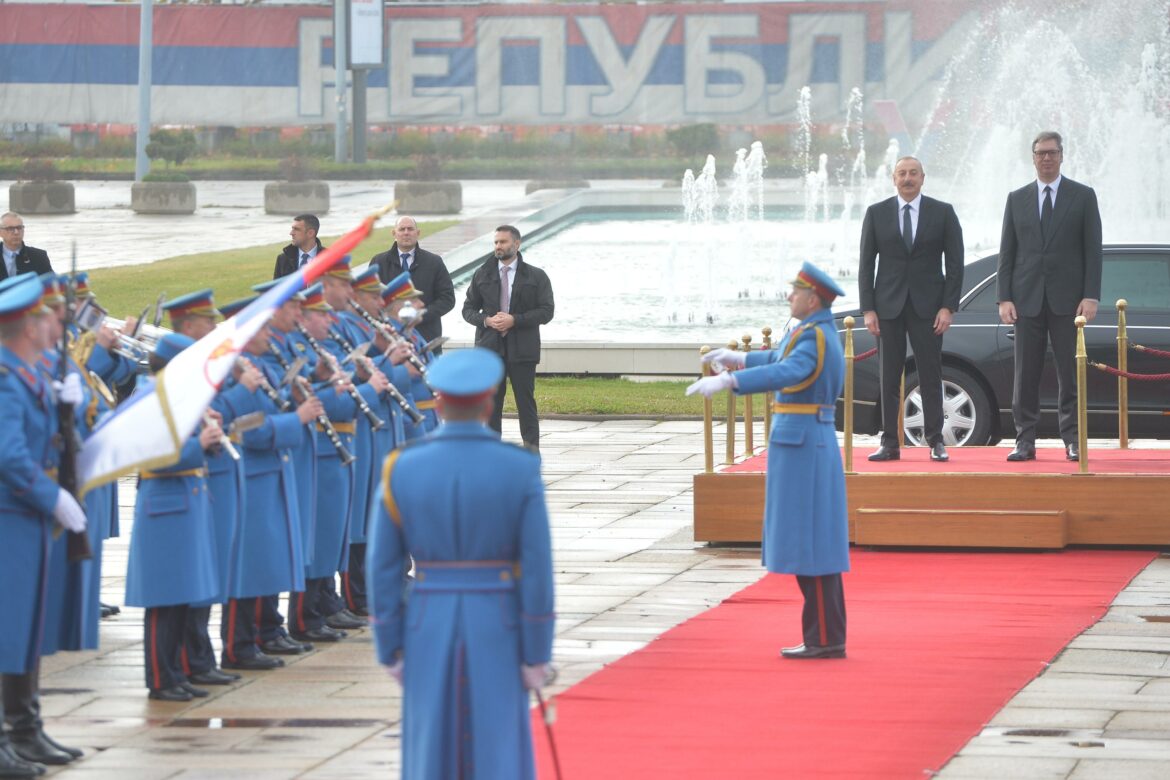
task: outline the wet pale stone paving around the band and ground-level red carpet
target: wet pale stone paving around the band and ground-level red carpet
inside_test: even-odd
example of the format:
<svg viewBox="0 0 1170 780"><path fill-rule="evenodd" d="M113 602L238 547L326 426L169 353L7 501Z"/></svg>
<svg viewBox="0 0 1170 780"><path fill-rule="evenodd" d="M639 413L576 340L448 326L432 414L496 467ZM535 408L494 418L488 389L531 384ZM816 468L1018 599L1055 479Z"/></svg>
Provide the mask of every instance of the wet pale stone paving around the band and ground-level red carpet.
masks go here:
<svg viewBox="0 0 1170 780"><path fill-rule="evenodd" d="M505 437L518 439L515 420L504 426ZM555 691L762 577L758 550L693 540L700 423L549 420L542 428L558 587ZM859 437L859 447L869 444ZM123 482L121 503L129 531L132 481ZM105 548L108 602L122 602L128 543L124 536ZM369 631L318 646L284 669L243 675L207 699L149 700L142 610L123 608L102 622L99 651L46 660L48 729L85 748L53 776L397 774L399 689L374 662ZM940 776L1170 776L1170 558L1147 567Z"/></svg>

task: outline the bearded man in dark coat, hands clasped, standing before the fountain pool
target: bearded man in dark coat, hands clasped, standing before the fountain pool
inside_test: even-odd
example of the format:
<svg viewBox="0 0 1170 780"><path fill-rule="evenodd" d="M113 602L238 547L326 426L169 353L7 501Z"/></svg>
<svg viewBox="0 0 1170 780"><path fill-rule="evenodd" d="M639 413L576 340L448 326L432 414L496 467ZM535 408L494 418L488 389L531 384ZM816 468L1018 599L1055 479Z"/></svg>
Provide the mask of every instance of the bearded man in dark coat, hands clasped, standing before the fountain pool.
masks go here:
<svg viewBox="0 0 1170 780"><path fill-rule="evenodd" d="M552 319L552 283L519 254L519 230L496 228L495 251L472 277L463 301L463 319L475 325L475 346L504 359L504 378L496 389L491 428L501 429L504 393L511 378L519 414L519 435L536 449L541 424L536 416L536 364L541 361L541 325Z"/></svg>

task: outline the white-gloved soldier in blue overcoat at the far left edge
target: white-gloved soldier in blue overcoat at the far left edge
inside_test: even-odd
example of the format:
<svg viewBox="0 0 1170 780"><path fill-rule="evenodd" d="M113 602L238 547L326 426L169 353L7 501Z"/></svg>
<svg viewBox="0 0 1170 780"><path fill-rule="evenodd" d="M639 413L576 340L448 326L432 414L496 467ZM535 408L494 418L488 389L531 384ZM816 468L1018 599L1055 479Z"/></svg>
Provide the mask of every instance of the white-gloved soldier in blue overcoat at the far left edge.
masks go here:
<svg viewBox="0 0 1170 780"><path fill-rule="evenodd" d="M51 315L33 274L0 282L0 572L7 614L0 631L0 776L43 774L41 764L64 764L81 751L49 738L40 719L37 670L47 626L50 550L55 525L85 530L85 513L56 483L54 388L37 364L50 348Z"/></svg>

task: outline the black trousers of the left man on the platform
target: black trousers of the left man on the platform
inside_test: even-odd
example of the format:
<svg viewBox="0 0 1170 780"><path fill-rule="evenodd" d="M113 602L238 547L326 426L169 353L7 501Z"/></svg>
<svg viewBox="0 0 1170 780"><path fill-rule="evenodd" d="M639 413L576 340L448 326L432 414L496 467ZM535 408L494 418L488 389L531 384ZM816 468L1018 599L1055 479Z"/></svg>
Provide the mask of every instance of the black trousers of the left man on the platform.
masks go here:
<svg viewBox="0 0 1170 780"><path fill-rule="evenodd" d="M900 447L902 432L897 429L899 401L902 391L902 371L906 368L906 339L910 338L914 363L918 370L918 393L922 395L922 437L927 444L943 440L943 337L935 333L935 318L918 317L909 302L902 315L894 319L879 319L881 347L881 443Z"/></svg>

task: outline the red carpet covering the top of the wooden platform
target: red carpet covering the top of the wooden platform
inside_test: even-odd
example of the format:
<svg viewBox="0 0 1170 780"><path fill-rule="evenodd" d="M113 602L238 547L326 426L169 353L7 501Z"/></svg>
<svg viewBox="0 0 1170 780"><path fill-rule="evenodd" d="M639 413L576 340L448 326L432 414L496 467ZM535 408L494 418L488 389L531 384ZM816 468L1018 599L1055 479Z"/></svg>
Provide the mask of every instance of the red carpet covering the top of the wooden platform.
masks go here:
<svg viewBox="0 0 1170 780"><path fill-rule="evenodd" d="M1034 461L1009 463L1011 447L952 447L948 463L935 463L925 447L903 447L901 461L870 463L866 460L876 447L853 448L853 470L858 474L907 474L942 471L950 474L1076 474L1076 461L1065 460L1065 450L1040 448ZM841 455L842 462L845 455ZM741 463L723 467L723 472L764 471L768 455L759 454ZM1090 449L1089 471L1093 474L1168 474L1170 450L1166 449Z"/></svg>

